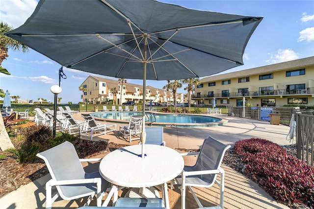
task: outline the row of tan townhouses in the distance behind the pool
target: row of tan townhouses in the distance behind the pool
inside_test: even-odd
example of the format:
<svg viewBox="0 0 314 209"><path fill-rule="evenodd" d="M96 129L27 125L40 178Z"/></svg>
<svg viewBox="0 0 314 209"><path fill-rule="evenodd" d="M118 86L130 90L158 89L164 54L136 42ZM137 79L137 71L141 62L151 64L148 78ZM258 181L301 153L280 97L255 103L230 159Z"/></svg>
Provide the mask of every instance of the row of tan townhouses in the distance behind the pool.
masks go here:
<svg viewBox="0 0 314 209"><path fill-rule="evenodd" d="M122 104L126 101L134 101L139 103L143 101L143 86L133 83L121 83L117 80L101 78L96 76L89 76L81 84L84 87L84 94L81 95L81 100L85 100L89 104L102 104L110 100L115 100L115 104ZM114 97L110 89L116 88L118 91ZM122 92L121 92L122 88ZM122 101L120 101L122 93ZM183 94L177 94L177 103L183 103ZM145 102L149 103L152 100L153 103L164 103L167 102L167 91L164 89L158 89L153 86L146 86ZM173 93L169 92L168 102L174 101Z"/></svg>

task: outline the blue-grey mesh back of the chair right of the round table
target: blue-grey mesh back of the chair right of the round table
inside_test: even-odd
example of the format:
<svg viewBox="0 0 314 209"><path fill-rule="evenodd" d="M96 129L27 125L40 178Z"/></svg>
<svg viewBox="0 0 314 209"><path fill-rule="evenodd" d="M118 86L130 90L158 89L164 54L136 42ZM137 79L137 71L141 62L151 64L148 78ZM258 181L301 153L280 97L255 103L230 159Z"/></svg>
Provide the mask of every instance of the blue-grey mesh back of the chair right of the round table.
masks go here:
<svg viewBox="0 0 314 209"><path fill-rule="evenodd" d="M193 170L216 170L220 168L222 159L230 145L223 144L211 136L204 140L200 154L196 160ZM200 179L205 182L213 183L217 174L201 175Z"/></svg>

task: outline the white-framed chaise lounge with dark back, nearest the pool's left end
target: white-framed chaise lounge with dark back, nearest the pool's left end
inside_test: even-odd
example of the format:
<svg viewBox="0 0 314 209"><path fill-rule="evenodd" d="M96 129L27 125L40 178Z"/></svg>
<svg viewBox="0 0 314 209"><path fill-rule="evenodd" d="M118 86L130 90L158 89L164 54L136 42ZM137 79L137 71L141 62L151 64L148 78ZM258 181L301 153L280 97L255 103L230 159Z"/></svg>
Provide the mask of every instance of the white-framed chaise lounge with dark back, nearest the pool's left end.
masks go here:
<svg viewBox="0 0 314 209"><path fill-rule="evenodd" d="M116 124L99 124L90 114L82 114L82 117L84 118L85 123L80 135L88 136L91 140L93 140L93 137L95 136L105 135L110 131L117 130Z"/></svg>

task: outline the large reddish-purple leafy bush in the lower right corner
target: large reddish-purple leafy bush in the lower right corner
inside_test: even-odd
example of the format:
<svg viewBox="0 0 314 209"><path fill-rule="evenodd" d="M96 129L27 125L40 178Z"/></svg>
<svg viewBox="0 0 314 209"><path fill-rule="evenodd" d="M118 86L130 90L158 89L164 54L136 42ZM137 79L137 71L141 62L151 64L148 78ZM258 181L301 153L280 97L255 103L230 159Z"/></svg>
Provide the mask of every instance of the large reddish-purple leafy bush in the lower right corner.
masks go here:
<svg viewBox="0 0 314 209"><path fill-rule="evenodd" d="M244 173L275 200L314 208L314 167L265 139L237 141L234 149L246 165Z"/></svg>

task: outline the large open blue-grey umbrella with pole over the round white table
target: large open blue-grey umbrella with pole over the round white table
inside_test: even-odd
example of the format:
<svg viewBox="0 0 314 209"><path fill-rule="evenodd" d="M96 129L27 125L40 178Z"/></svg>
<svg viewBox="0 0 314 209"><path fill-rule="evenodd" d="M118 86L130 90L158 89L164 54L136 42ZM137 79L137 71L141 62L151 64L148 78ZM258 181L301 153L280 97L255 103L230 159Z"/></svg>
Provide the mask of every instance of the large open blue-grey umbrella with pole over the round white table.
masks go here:
<svg viewBox="0 0 314 209"><path fill-rule="evenodd" d="M26 23L5 35L67 68L143 79L144 120L146 79L204 77L243 65L261 21L155 0L40 0Z"/></svg>

